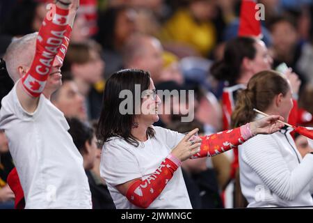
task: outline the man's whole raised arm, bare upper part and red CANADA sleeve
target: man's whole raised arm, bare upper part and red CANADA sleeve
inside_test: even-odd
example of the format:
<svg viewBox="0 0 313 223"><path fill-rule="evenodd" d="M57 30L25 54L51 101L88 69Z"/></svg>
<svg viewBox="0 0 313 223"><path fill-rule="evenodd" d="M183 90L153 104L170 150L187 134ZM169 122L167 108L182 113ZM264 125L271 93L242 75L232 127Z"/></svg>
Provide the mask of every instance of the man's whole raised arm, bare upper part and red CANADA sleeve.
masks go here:
<svg viewBox="0 0 313 223"><path fill-rule="evenodd" d="M47 13L36 39L31 68L19 82L17 96L27 112L34 112L45 89L51 66L68 33L69 8L73 0L56 1L55 10Z"/></svg>

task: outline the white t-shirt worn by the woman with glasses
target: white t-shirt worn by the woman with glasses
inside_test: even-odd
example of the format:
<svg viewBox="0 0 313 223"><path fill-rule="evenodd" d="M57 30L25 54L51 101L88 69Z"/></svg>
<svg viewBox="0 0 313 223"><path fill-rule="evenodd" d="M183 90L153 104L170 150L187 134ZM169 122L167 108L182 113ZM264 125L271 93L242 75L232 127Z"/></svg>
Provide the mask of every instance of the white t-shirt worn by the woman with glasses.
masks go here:
<svg viewBox="0 0 313 223"><path fill-rule="evenodd" d="M124 139L113 137L102 148L100 174L106 180L116 208L138 207L120 194L115 185L135 178L145 180L184 137L184 134L165 128L154 127L154 130L155 137L140 143L138 147L132 146ZM174 172L172 179L149 208L192 208L181 167Z"/></svg>

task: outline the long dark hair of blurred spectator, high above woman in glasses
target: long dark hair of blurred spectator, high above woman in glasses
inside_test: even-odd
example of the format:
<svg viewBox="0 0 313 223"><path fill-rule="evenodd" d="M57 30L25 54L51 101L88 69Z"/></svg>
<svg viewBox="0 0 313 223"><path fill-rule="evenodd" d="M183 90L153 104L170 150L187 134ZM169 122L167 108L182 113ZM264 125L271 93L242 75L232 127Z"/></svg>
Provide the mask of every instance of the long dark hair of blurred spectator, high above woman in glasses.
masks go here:
<svg viewBox="0 0 313 223"><path fill-rule="evenodd" d="M99 31L96 36L98 43L104 49L114 50L115 26L118 15L127 10L127 6L115 6L107 8L104 12L100 13L98 19Z"/></svg>

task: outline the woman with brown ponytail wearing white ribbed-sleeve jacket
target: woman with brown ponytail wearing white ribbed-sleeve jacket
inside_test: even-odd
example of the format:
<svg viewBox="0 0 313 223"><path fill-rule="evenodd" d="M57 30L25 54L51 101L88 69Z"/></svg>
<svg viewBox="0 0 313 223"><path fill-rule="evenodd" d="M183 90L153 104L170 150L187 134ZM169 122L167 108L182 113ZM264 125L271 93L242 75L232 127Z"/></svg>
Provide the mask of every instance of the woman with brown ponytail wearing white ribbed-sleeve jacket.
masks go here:
<svg viewBox="0 0 313 223"><path fill-rule="evenodd" d="M257 73L239 94L233 126L262 117L253 108L287 120L293 106L291 95L289 82L278 72ZM301 157L291 131L282 128L239 146L241 191L248 207L313 206L313 155Z"/></svg>

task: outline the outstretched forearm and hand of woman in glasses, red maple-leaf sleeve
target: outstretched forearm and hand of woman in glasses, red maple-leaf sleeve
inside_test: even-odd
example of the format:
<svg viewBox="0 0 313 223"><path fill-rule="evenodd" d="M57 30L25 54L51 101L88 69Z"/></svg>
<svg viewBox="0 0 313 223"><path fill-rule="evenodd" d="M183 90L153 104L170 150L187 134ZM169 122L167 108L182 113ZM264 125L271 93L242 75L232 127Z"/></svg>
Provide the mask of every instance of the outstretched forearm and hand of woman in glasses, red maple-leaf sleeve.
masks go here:
<svg viewBox="0 0 313 223"><path fill-rule="evenodd" d="M191 156L191 159L218 155L232 148L237 148L237 146L243 144L243 142L256 134L271 134L276 132L284 126L282 123L277 122L282 119L280 116L268 116L258 121L247 123L239 128L234 128L233 130L225 130L209 136L200 137L202 139L200 152Z"/></svg>

